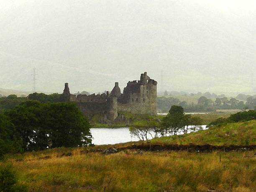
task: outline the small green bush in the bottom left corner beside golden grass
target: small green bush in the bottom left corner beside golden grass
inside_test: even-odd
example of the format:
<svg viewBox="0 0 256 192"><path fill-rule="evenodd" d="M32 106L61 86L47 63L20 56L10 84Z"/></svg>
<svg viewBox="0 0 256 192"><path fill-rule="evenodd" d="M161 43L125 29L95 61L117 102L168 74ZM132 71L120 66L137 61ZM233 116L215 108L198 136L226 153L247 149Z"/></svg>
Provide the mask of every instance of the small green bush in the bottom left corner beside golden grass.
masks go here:
<svg viewBox="0 0 256 192"><path fill-rule="evenodd" d="M26 186L19 184L16 173L11 165L0 166L0 191L1 192L26 192Z"/></svg>

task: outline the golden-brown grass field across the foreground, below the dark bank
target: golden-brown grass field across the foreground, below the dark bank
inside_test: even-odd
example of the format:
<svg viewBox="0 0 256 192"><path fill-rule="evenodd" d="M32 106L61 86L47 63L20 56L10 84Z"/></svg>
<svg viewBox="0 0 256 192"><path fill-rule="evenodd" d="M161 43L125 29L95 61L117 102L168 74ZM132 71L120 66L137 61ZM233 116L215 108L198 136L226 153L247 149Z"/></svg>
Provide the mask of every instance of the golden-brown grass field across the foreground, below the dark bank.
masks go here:
<svg viewBox="0 0 256 192"><path fill-rule="evenodd" d="M26 153L13 163L20 182L36 192L157 192L256 190L256 151L188 153L187 151L143 152L126 150L117 154L60 156L58 149ZM45 156L49 156L48 159Z"/></svg>

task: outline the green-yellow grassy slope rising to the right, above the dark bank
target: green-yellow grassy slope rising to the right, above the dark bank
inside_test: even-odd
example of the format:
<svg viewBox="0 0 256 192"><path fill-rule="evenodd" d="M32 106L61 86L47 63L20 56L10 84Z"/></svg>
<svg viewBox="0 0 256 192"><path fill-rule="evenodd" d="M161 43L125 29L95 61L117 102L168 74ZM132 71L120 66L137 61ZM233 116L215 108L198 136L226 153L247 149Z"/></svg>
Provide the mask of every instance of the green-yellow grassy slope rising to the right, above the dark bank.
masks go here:
<svg viewBox="0 0 256 192"><path fill-rule="evenodd" d="M255 145L256 120L228 123L222 127L212 127L208 130L198 131L179 136L154 138L151 143L161 144L210 144L222 145Z"/></svg>

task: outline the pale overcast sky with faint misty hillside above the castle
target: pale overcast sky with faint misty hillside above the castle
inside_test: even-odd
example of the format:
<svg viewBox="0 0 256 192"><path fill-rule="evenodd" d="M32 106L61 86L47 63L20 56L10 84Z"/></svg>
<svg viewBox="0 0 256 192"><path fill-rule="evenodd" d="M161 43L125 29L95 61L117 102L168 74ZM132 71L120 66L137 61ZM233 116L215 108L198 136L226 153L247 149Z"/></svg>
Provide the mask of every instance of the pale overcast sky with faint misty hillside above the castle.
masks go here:
<svg viewBox="0 0 256 192"><path fill-rule="evenodd" d="M255 0L0 0L0 88L252 92ZM163 81L161 81L161 72ZM254 82L254 85L253 85Z"/></svg>

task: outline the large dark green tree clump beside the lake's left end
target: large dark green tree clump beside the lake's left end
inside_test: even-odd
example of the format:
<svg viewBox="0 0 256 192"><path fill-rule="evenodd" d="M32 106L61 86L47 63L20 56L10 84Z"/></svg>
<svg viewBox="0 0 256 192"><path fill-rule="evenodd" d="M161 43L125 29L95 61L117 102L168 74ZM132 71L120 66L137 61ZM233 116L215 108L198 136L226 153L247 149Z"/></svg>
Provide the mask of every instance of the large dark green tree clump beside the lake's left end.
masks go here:
<svg viewBox="0 0 256 192"><path fill-rule="evenodd" d="M26 150L91 143L90 124L74 103L28 100L6 112Z"/></svg>

